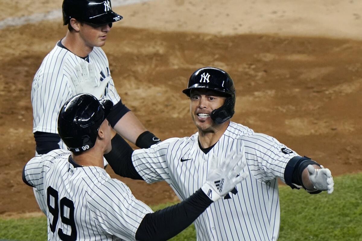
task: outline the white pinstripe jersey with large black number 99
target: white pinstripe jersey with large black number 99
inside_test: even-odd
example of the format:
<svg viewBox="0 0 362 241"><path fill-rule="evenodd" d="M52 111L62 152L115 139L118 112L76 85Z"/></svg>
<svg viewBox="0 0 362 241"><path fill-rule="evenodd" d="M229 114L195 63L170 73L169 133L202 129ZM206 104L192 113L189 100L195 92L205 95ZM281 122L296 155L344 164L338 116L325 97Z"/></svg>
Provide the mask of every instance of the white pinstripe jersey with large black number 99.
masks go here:
<svg viewBox="0 0 362 241"><path fill-rule="evenodd" d="M152 210L103 168L75 167L70 155L50 151L25 167L26 180L47 203L48 240L135 240Z"/></svg>

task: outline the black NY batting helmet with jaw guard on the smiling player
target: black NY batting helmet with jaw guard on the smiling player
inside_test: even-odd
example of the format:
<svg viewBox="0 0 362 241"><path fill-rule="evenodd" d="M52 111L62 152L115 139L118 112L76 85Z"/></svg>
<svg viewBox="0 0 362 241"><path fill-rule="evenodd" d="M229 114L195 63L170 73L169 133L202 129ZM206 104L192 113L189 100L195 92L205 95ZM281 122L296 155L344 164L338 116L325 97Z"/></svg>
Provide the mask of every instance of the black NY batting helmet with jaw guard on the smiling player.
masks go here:
<svg viewBox="0 0 362 241"><path fill-rule="evenodd" d="M235 86L232 78L222 69L205 67L196 70L189 79L187 89L182 92L190 97L192 89L210 89L226 95L224 104L214 109L210 117L216 124L221 124L230 119L235 111Z"/></svg>

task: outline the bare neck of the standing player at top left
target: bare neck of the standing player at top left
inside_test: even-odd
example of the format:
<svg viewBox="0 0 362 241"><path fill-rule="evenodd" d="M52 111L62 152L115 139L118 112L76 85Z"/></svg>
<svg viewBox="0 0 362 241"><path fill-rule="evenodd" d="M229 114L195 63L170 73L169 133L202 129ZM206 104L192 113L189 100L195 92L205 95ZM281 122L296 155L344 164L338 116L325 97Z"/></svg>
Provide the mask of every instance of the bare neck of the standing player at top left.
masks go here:
<svg viewBox="0 0 362 241"><path fill-rule="evenodd" d="M62 44L69 51L82 58L89 55L89 53L93 50L93 47L87 46L87 44L79 38L78 33L73 33L69 30L67 35L62 39Z"/></svg>

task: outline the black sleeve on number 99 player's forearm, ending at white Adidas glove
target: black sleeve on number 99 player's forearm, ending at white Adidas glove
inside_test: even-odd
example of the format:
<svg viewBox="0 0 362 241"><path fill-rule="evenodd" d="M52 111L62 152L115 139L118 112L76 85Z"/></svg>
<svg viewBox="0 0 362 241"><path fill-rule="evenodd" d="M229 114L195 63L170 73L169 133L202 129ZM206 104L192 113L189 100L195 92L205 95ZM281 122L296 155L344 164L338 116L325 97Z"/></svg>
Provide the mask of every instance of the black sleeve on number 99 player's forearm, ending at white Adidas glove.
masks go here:
<svg viewBox="0 0 362 241"><path fill-rule="evenodd" d="M137 229L136 240L168 240L187 228L211 203L199 189L183 202L146 214Z"/></svg>

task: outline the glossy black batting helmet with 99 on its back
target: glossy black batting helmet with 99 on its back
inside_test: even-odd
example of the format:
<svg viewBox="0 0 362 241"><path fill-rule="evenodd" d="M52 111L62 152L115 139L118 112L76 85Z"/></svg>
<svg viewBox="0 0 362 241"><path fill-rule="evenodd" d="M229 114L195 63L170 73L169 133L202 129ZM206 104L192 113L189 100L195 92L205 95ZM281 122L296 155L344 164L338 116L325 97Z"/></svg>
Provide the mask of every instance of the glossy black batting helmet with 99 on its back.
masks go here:
<svg viewBox="0 0 362 241"><path fill-rule="evenodd" d="M112 107L110 100L97 100L90 94L78 94L69 99L58 116L58 133L68 150L80 152L92 148Z"/></svg>

